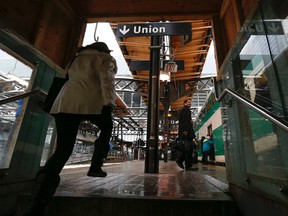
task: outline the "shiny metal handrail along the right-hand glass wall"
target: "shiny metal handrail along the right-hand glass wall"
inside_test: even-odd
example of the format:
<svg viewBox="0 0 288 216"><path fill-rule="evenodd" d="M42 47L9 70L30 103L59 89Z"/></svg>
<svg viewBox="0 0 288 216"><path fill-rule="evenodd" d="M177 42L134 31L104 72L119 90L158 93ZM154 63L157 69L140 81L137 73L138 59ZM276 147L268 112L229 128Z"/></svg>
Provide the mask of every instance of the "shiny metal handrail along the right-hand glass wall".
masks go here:
<svg viewBox="0 0 288 216"><path fill-rule="evenodd" d="M226 94L229 93L234 98L242 102L244 105L254 109L256 112L264 116L265 118L272 121L274 124L276 124L278 127L282 128L285 132L288 133L288 122L284 121L283 119L279 118L277 115L267 111L263 107L259 106L258 104L248 100L244 96L240 95L239 93L231 90L231 89L224 89L224 91L221 93L221 95L218 98L218 101L223 100L223 98L226 96Z"/></svg>

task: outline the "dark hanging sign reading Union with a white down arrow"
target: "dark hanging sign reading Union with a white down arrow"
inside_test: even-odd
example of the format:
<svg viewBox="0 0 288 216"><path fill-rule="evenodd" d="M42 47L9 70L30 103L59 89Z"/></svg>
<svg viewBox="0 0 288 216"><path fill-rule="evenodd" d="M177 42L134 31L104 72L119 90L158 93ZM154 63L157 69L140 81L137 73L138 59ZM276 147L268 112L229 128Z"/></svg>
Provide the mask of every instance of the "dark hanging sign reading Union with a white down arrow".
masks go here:
<svg viewBox="0 0 288 216"><path fill-rule="evenodd" d="M117 37L156 36L156 35L191 35L191 23L144 23L121 24L117 28Z"/></svg>

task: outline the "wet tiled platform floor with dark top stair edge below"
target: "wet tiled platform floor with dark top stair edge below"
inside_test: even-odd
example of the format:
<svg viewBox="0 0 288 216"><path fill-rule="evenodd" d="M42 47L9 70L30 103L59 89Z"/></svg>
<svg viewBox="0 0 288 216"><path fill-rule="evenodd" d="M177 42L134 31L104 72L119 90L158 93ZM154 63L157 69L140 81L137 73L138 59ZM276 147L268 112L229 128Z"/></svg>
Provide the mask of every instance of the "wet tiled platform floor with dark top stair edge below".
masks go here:
<svg viewBox="0 0 288 216"><path fill-rule="evenodd" d="M89 165L69 165L61 172L46 215L240 215L223 166L195 164L180 169L159 162L159 173L144 173L144 161L105 164L105 178L86 175Z"/></svg>

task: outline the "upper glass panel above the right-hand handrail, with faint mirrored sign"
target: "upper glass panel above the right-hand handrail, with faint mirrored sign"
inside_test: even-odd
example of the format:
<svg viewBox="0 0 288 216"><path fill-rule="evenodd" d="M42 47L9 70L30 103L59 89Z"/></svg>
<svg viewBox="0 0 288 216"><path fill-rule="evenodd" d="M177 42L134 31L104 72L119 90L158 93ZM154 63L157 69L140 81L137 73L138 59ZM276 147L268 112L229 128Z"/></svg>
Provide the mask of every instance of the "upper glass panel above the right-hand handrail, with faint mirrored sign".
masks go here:
<svg viewBox="0 0 288 216"><path fill-rule="evenodd" d="M256 27L255 22L248 25L254 30L239 53L244 82L242 93L263 108L285 117L287 101L283 93L287 89L282 82L288 81L288 77L281 73L281 68L288 66L288 21L265 20L264 24L267 36L263 35L263 23L261 26L261 22L257 22ZM283 58L285 61L281 61Z"/></svg>

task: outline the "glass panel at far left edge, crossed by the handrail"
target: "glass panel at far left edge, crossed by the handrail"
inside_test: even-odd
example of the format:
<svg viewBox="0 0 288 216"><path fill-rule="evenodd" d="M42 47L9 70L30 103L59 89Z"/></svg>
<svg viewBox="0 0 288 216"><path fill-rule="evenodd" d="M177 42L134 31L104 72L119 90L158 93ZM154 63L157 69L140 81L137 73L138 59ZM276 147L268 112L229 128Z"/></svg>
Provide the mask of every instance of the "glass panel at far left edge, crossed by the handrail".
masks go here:
<svg viewBox="0 0 288 216"><path fill-rule="evenodd" d="M24 93L32 69L0 50L0 100ZM25 99L0 105L0 169L8 168L25 110Z"/></svg>

